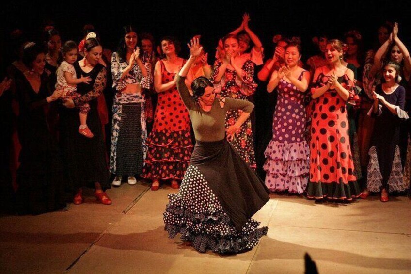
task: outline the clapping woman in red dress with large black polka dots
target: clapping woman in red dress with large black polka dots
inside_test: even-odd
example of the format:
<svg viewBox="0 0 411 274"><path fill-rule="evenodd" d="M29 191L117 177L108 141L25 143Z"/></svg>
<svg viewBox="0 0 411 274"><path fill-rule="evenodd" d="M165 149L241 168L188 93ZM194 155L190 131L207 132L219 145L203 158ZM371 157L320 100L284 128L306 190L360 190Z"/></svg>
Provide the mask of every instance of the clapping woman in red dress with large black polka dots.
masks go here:
<svg viewBox="0 0 411 274"><path fill-rule="evenodd" d="M327 42L327 66L316 69L311 94L311 165L306 189L311 199L352 200L360 194L348 135L346 101L354 96L354 73L341 60L339 40Z"/></svg>

